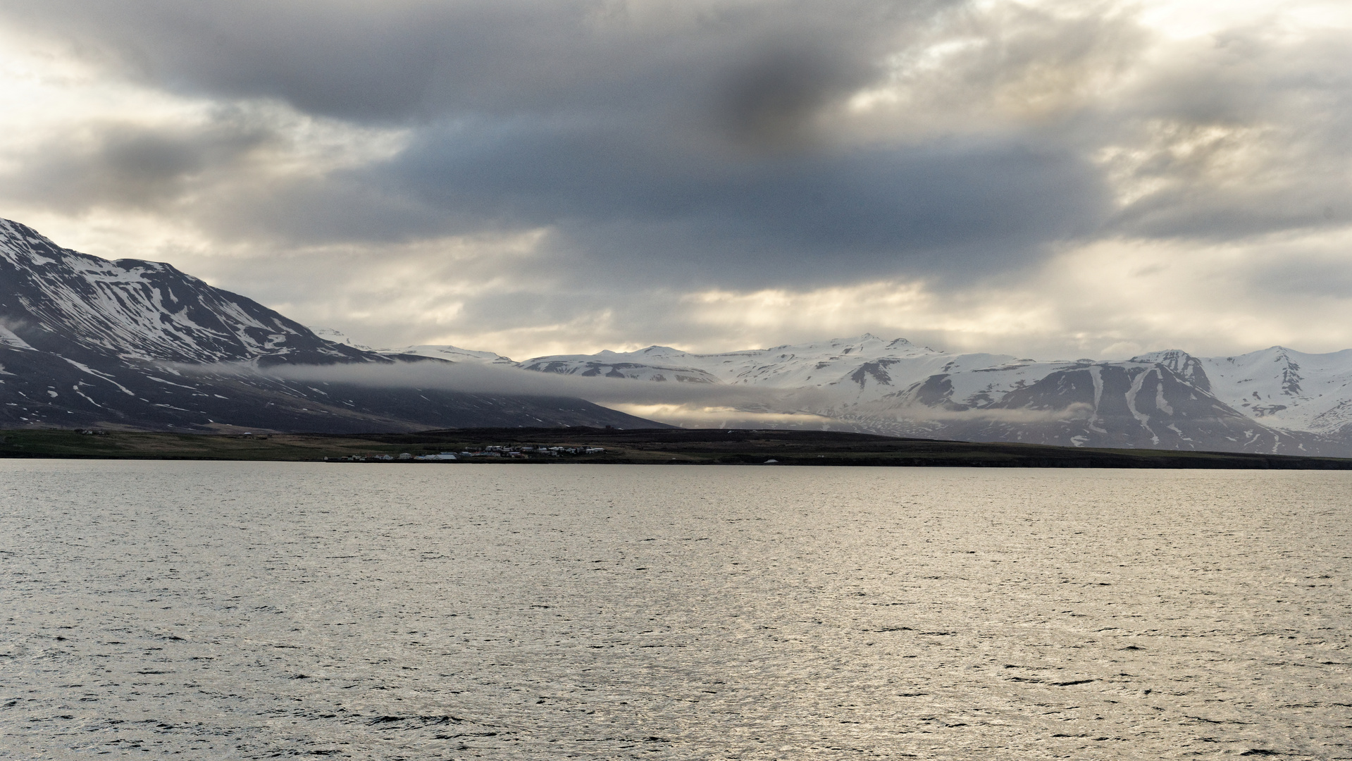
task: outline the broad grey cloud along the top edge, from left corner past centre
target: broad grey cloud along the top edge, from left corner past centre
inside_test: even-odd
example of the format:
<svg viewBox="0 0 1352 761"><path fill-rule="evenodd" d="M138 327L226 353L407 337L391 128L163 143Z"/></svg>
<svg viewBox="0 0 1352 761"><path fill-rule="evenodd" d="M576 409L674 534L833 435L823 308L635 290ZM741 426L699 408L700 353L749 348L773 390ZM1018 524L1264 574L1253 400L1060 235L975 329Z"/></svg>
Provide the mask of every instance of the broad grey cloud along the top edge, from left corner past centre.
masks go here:
<svg viewBox="0 0 1352 761"><path fill-rule="evenodd" d="M631 111L714 87L706 105L754 132L804 116L952 4L14 0L0 14L145 81L312 114Z"/></svg>

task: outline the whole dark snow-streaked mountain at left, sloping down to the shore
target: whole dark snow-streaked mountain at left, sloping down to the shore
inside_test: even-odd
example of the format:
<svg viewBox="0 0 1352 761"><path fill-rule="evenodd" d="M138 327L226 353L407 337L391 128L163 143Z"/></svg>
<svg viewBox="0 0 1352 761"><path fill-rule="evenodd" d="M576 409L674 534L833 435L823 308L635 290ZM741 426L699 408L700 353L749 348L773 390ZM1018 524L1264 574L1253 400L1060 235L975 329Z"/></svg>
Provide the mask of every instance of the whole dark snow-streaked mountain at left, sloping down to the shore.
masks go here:
<svg viewBox="0 0 1352 761"><path fill-rule="evenodd" d="M219 366L400 361L442 360L326 341L170 265L91 257L0 220L0 427L654 426L580 399L293 383Z"/></svg>

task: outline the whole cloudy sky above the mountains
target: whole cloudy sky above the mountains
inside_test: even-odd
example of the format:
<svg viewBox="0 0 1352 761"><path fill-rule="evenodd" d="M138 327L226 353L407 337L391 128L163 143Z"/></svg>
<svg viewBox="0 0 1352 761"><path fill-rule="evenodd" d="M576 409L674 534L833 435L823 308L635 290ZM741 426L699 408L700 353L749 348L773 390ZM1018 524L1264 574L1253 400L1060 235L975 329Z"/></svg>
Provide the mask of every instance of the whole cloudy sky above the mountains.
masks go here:
<svg viewBox="0 0 1352 761"><path fill-rule="evenodd" d="M1345 0L5 0L0 134L373 346L1352 347Z"/></svg>

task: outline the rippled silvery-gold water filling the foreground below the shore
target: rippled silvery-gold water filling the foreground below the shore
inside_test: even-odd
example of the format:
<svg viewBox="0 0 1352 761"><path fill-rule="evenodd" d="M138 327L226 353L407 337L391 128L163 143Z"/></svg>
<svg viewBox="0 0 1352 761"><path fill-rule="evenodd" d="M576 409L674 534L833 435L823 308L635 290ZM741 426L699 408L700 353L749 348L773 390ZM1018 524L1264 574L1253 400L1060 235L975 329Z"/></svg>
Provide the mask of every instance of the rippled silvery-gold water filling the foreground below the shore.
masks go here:
<svg viewBox="0 0 1352 761"><path fill-rule="evenodd" d="M0 756L1349 758L1349 487L0 461Z"/></svg>

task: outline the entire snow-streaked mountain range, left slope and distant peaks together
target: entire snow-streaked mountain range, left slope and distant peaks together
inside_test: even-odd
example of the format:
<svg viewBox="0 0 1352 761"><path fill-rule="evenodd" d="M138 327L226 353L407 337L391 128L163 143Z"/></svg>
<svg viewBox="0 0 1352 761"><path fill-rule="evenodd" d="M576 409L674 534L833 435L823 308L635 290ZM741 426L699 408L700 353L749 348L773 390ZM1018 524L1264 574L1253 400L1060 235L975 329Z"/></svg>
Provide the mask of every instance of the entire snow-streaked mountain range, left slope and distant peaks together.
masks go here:
<svg viewBox="0 0 1352 761"><path fill-rule="evenodd" d="M681 384L673 399L687 401L685 392L726 388L737 393L718 404L760 419L807 412L817 416L810 424L895 435L1352 456L1352 350L1048 362L869 334L719 354L649 346L525 362L456 346L372 350L170 265L91 257L0 220L0 426L653 426L580 399L300 383L266 372L441 361ZM231 369L241 366L262 372Z"/></svg>

